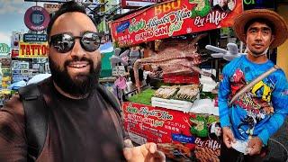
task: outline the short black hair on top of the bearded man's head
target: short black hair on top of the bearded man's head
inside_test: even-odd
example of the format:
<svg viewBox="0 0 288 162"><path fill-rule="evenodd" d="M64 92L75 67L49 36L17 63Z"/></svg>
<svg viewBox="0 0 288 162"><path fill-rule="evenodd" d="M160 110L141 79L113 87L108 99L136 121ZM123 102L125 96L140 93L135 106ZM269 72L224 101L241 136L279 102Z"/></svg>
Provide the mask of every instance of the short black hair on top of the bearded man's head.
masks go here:
<svg viewBox="0 0 288 162"><path fill-rule="evenodd" d="M50 36L52 26L55 23L55 21L58 19L58 17L60 15L62 15L62 14L74 13L74 12L86 14L85 7L80 5L80 4L77 4L75 1L68 1L67 3L62 4L61 7L58 9L58 11L51 17L51 19L49 21L49 24L48 24L48 27L47 27L48 38ZM94 19L91 18L90 16L88 16L88 17L91 19L91 21L96 26L96 23L94 22Z"/></svg>

